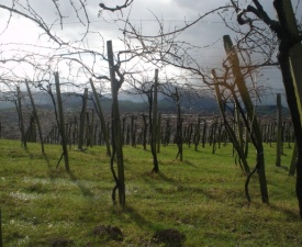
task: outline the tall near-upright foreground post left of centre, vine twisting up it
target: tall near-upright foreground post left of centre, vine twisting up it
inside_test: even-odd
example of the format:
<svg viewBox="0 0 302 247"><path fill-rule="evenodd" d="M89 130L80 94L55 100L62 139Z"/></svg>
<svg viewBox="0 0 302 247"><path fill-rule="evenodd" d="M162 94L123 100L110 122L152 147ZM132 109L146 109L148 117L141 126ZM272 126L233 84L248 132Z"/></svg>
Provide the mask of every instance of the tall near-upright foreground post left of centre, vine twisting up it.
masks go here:
<svg viewBox="0 0 302 247"><path fill-rule="evenodd" d="M116 186L113 189L113 194L115 189L119 190L119 202L120 205L125 205L125 178L124 178L124 157L123 157L123 143L121 135L121 119L120 119L120 108L119 108L119 90L122 86L122 82L115 78L115 66L113 59L113 49L112 42L107 42L107 52L108 52L108 63L110 70L110 80L111 80L111 94L112 94L112 133L113 133L113 150L111 156L111 168L113 171L113 161L116 153L118 161L118 177L114 177ZM114 173L113 173L114 176ZM112 197L113 202L115 202L114 197Z"/></svg>

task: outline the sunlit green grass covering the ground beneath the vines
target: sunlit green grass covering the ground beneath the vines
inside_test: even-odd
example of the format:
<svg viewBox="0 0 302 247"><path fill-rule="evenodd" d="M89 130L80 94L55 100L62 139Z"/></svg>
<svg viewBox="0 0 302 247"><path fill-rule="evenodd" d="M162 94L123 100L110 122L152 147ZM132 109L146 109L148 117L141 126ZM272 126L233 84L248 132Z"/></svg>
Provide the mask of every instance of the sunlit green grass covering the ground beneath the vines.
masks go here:
<svg viewBox="0 0 302 247"><path fill-rule="evenodd" d="M186 235L183 246L301 246L302 222L288 176L292 149L284 147L282 168L276 149L266 148L270 204L262 204L258 178L250 181L251 204L244 197L245 176L235 165L231 145L212 155L212 147L184 146L184 160L175 160L176 146L161 147L159 175L150 173L149 150L124 147L126 206L113 205L114 186L104 147L69 150L70 169L60 147L0 139L0 206L3 246L159 246L150 242L165 228ZM250 148L249 164L255 164ZM122 243L93 235L98 225L118 226ZM65 246L65 245L60 245Z"/></svg>

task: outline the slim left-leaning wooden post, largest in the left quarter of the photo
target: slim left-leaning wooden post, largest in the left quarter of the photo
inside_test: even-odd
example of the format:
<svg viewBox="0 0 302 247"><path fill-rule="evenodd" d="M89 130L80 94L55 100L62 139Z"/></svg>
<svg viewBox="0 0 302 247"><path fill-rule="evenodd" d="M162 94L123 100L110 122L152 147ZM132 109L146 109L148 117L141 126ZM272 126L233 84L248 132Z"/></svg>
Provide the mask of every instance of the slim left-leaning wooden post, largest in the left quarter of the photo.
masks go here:
<svg viewBox="0 0 302 247"><path fill-rule="evenodd" d="M66 169L66 171L69 172L70 171L69 158L68 158L66 133L65 133L64 111L63 111L58 72L55 72L55 83L56 83L57 108L58 108L58 117L59 117L59 126L58 127L59 127L59 133L60 133L60 137L61 137L63 156L64 156L64 161L65 161L65 169Z"/></svg>

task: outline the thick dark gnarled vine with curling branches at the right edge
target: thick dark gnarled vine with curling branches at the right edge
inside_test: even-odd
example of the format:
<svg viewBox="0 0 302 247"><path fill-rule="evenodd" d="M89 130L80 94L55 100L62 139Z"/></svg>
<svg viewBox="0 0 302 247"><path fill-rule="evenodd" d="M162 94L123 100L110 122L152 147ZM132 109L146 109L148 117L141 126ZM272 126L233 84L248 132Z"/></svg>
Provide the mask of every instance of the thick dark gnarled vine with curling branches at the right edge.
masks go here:
<svg viewBox="0 0 302 247"><path fill-rule="evenodd" d="M248 24L250 32L253 32L256 26L254 22L258 19L261 20L277 36L278 40L278 61L281 69L283 85L287 93L288 105L292 115L292 122L295 134L295 142L298 145L298 158L297 158L297 186L295 192L300 206L300 216L302 217L302 123L301 123L301 91L297 88L295 80L302 79L301 69L295 67L299 63L298 59L293 57L291 50L295 46L300 49L295 49L299 53L298 56L301 57L301 42L302 33L294 27L297 25L293 19L291 1L275 0L273 8L278 14L278 21L272 20L267 12L264 10L262 5L258 0L253 0L254 5L249 4L245 9L238 8L235 1L232 1L236 9L237 21L241 25ZM251 15L247 15L251 14ZM251 36L253 37L253 36ZM298 86L299 87L299 86Z"/></svg>

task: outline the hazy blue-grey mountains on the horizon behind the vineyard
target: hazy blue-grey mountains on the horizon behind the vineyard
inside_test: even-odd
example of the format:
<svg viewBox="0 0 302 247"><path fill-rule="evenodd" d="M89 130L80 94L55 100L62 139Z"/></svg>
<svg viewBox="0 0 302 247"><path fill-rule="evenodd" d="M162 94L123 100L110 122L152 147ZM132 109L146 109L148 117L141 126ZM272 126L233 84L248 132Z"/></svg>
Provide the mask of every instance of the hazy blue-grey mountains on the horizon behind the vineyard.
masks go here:
<svg viewBox="0 0 302 247"><path fill-rule="evenodd" d="M26 92L22 93L24 97L24 106L30 106L30 99ZM8 97L7 97L8 98ZM56 98L56 97L55 97ZM64 108L70 111L80 111L82 108L82 94L78 93L61 93ZM37 109L53 109L53 101L47 92L38 91L33 93L33 99ZM93 97L89 93L88 108L94 108L92 101ZM121 112L148 112L147 100L137 94L120 93L120 110ZM100 102L104 113L111 112L112 100L109 97L101 97ZM194 97L194 94L183 94L180 98L180 105L182 113L216 113L219 108L214 97L204 96L202 98ZM0 101L0 109L14 108L14 104L9 101ZM158 99L158 111L161 113L176 113L177 108L172 98L160 94ZM287 108L282 109L284 115L289 114ZM257 106L257 113L264 115L277 114L276 105L260 105Z"/></svg>

